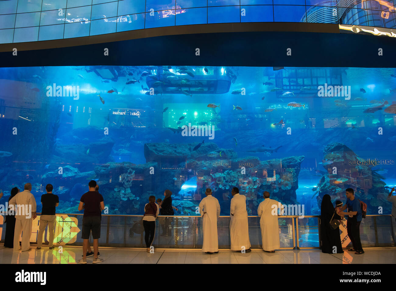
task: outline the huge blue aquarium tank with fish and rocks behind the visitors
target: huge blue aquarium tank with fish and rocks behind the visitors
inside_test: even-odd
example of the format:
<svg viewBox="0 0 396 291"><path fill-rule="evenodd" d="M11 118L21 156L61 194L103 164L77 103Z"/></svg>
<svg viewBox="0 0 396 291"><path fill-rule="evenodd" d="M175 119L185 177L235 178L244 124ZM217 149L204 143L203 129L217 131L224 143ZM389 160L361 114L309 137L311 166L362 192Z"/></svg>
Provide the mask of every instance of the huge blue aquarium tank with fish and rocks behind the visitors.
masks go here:
<svg viewBox="0 0 396 291"><path fill-rule="evenodd" d="M345 189L390 214L396 185L396 69L81 66L0 68L0 188L46 184L59 213L79 213L88 182L109 214L143 215L173 195L198 215L211 188L257 215L263 192L320 214ZM3 199L4 199L3 198Z"/></svg>

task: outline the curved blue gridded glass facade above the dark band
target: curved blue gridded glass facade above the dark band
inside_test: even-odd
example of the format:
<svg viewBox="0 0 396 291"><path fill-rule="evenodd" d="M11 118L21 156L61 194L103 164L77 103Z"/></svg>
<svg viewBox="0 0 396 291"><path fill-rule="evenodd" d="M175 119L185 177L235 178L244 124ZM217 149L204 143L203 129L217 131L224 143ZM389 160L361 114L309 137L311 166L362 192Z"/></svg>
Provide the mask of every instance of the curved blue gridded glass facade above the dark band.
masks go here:
<svg viewBox="0 0 396 291"><path fill-rule="evenodd" d="M2 0L0 43L176 25L310 22L396 27L393 0Z"/></svg>

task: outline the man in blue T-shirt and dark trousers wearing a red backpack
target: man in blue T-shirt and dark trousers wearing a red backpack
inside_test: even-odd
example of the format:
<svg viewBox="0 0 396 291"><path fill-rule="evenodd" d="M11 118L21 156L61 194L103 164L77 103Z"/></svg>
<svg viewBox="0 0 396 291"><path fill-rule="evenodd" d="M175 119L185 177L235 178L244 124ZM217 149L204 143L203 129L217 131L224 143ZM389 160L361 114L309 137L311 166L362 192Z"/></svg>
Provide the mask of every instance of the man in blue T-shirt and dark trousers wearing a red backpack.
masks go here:
<svg viewBox="0 0 396 291"><path fill-rule="evenodd" d="M348 219L346 221L346 230L350 241L352 242L352 248L348 251L354 251L356 255L364 254L362 243L360 242L360 223L362 222L362 206L361 202L354 195L354 190L348 188L345 190L346 193L346 204L340 208L344 211L348 207ZM341 215L344 213L341 213Z"/></svg>

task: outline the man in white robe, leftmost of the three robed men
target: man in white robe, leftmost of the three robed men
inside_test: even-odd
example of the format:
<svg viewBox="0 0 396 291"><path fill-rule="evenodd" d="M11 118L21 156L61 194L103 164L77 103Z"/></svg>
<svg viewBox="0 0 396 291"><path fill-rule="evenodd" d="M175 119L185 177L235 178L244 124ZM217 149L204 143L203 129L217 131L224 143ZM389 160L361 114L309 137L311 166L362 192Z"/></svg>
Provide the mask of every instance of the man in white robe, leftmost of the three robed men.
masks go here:
<svg viewBox="0 0 396 291"><path fill-rule="evenodd" d="M206 197L199 204L199 212L202 216L202 230L204 243L202 251L207 254L219 252L219 240L217 238L217 218L220 216L219 200L212 196L212 190L205 191Z"/></svg>

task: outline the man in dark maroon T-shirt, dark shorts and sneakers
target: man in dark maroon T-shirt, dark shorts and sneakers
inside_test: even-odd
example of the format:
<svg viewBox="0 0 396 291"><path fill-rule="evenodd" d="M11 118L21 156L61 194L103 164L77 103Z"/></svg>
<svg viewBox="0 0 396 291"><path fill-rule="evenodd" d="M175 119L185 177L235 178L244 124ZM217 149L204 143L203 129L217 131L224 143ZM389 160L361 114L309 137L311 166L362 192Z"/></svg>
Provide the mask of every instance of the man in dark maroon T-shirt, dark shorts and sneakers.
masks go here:
<svg viewBox="0 0 396 291"><path fill-rule="evenodd" d="M102 259L98 258L98 247L100 238L100 227L101 227L101 215L102 210L105 209L103 202L103 196L95 191L96 181L91 180L88 183L89 192L86 192L80 199L80 205L78 205L78 211L84 209L84 216L82 218L82 235L81 238L84 240L82 243L83 257L80 259L80 264L87 263L87 249L89 234L92 231L93 238L93 251L94 259L93 263L101 263Z"/></svg>

